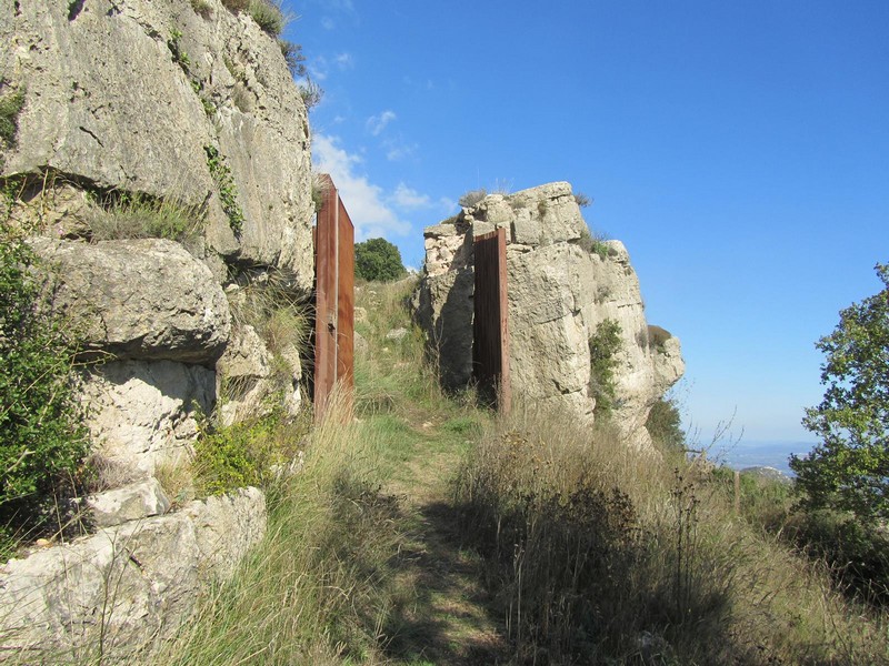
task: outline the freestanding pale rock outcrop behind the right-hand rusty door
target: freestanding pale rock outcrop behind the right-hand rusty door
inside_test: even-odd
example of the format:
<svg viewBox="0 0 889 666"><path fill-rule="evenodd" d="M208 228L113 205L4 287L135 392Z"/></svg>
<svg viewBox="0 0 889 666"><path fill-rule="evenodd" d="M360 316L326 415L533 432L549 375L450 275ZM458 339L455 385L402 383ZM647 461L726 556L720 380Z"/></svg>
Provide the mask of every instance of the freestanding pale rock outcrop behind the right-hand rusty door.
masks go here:
<svg viewBox="0 0 889 666"><path fill-rule="evenodd" d="M630 443L650 444L645 423L651 405L683 372L679 341L663 330L649 339L626 249L618 241L600 253L588 249L589 231L568 183L493 194L426 230L417 316L439 354L442 381L457 387L471 380L472 242L498 228L507 230L513 393L591 422L589 341L601 322L616 321L621 344L613 421Z"/></svg>

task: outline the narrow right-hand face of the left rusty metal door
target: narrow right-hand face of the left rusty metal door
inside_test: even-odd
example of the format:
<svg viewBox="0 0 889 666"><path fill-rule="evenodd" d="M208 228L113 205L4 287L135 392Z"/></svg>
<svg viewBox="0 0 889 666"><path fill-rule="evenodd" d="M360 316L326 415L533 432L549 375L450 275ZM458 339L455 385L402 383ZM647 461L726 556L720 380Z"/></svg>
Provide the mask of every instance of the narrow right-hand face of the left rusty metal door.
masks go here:
<svg viewBox="0 0 889 666"><path fill-rule="evenodd" d="M354 387L354 228L339 202L337 281L337 380L351 395Z"/></svg>

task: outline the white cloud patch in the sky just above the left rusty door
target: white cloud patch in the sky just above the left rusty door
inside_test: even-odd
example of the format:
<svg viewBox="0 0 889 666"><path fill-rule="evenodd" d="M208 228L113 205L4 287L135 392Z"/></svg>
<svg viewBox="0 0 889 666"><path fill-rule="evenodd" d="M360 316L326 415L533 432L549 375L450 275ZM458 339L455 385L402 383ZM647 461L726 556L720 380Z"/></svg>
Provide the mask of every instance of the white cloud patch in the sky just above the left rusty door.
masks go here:
<svg viewBox="0 0 889 666"><path fill-rule="evenodd" d="M312 153L316 170L329 173L339 189L342 203L354 224L357 241L377 236L407 235L411 231L410 223L399 219L389 203L396 195L387 196L382 188L369 182L367 175L359 173L361 158L340 148L336 137L316 134ZM413 194L421 196L416 192Z"/></svg>

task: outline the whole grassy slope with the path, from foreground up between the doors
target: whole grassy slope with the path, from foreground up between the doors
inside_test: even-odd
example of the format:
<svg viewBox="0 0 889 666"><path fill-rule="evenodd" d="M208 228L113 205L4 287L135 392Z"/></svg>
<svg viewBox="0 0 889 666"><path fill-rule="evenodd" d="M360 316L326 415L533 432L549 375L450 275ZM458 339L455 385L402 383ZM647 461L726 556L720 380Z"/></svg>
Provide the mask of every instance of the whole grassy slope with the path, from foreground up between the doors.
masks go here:
<svg viewBox="0 0 889 666"><path fill-rule="evenodd" d="M359 287L357 418L311 432L266 541L152 663L889 663L886 616L707 465L443 394L412 286Z"/></svg>

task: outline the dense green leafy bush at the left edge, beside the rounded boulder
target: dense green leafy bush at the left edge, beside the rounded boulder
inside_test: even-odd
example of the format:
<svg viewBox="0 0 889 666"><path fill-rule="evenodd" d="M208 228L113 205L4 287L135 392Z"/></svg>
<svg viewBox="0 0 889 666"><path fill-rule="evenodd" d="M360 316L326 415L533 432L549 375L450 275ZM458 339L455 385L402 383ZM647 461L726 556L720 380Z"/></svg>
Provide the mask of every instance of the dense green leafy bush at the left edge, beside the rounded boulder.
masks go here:
<svg viewBox="0 0 889 666"><path fill-rule="evenodd" d="M53 315L39 260L0 220L0 536L46 531L88 438L73 397L71 329Z"/></svg>

